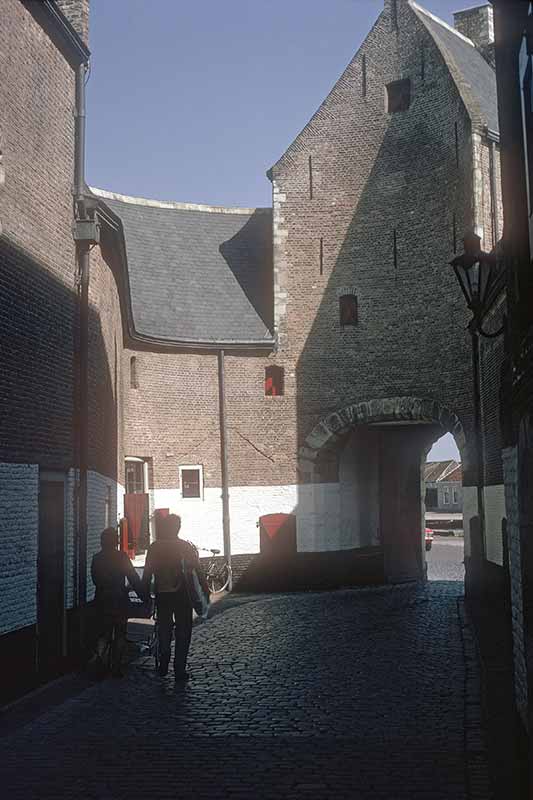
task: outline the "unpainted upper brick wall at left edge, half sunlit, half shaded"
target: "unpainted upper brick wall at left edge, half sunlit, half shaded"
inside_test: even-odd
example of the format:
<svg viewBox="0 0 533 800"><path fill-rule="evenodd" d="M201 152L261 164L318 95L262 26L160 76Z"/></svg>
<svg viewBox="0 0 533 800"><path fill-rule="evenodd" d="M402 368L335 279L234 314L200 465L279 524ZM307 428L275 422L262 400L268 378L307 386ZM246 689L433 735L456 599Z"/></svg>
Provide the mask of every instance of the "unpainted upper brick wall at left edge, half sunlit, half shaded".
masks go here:
<svg viewBox="0 0 533 800"><path fill-rule="evenodd" d="M17 47L13 48L13 42ZM0 26L0 459L72 461L74 73L18 0Z"/></svg>

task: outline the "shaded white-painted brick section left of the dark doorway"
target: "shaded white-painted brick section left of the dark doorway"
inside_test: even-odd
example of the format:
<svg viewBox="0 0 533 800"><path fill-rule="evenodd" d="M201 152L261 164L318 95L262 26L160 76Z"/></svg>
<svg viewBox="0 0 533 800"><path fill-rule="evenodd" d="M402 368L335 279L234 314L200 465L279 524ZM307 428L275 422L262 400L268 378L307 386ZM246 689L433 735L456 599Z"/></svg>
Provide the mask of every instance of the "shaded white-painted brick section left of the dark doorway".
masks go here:
<svg viewBox="0 0 533 800"><path fill-rule="evenodd" d="M0 464L0 634L37 621L39 468Z"/></svg>

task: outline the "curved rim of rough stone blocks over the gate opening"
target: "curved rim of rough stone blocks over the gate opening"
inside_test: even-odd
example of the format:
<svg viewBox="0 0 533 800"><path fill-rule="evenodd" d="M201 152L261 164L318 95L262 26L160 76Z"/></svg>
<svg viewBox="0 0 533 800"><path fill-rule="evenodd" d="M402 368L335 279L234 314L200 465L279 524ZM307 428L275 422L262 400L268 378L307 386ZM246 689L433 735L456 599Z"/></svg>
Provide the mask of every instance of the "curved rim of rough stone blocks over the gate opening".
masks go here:
<svg viewBox="0 0 533 800"><path fill-rule="evenodd" d="M431 398L387 397L350 403L321 419L298 451L300 475L304 479L305 476L311 476L318 455L333 449L341 437L357 425L380 422L420 422L438 425L443 433L451 433L454 436L463 462L465 460L466 437L457 414Z"/></svg>

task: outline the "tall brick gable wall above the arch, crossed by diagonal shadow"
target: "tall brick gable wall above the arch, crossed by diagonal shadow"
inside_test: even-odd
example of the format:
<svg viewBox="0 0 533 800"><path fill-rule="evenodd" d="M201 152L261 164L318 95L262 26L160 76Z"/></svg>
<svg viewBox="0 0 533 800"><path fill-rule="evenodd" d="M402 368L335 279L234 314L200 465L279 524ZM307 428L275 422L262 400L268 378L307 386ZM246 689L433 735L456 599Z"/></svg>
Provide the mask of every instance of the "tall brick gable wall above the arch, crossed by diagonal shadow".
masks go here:
<svg viewBox="0 0 533 800"><path fill-rule="evenodd" d="M454 219L459 243L473 221L470 124L440 53L407 4L398 8L399 32L387 14L378 19L273 168L286 293L278 359L296 376L299 444L346 403L412 394L457 413L472 447L469 314L446 266ZM411 79L411 106L387 114L385 86L400 77ZM342 330L339 295L351 291L359 323Z"/></svg>

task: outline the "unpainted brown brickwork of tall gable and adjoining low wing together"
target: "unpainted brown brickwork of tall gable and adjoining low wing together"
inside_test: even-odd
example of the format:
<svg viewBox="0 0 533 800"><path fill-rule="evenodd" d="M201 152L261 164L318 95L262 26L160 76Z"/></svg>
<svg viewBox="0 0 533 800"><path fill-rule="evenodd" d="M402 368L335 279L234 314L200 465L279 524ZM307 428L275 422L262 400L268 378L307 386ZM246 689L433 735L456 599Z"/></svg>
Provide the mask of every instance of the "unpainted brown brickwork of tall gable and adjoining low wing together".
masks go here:
<svg viewBox="0 0 533 800"><path fill-rule="evenodd" d="M278 349L265 357L226 357L229 480L239 491L289 491L300 481L298 448L316 422L372 398L437 399L460 417L469 450L464 455L473 455L469 313L447 264L475 212L492 235L488 150L479 138L475 204L468 116L425 29L407 4L399 9L399 33L383 14L273 168ZM385 85L400 76L411 78L411 107L390 115ZM359 324L341 330L339 296L351 290ZM132 357L137 388L129 385ZM282 397L264 396L267 364L285 369ZM216 493L216 355L127 350L123 371L125 453L151 459L152 488L167 492L176 510L180 465L202 465L206 491ZM470 457L466 485L473 482L474 463ZM337 478L332 469L317 480ZM156 507L163 502L158 497ZM311 498L316 502L329 508L329 500ZM215 506L208 516L218 513Z"/></svg>

